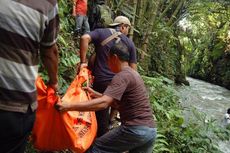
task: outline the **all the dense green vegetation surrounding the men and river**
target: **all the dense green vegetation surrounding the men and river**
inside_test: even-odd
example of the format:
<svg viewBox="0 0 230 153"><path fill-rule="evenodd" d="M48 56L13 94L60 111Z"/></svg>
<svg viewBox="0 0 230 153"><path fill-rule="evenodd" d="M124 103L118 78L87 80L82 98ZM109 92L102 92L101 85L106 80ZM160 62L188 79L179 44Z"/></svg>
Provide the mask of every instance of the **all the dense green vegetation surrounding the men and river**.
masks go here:
<svg viewBox="0 0 230 153"><path fill-rule="evenodd" d="M230 87L230 2L228 0L107 0L116 15L128 16L138 49L138 71L148 86L158 137L154 152L220 152L216 139L230 132L205 114L184 121L174 82L186 75ZM64 93L79 62L73 36L72 1L59 0L61 17L59 86ZM92 49L93 50L93 49ZM40 69L43 78L45 72ZM210 76L210 77L209 77ZM32 152L29 149L28 152Z"/></svg>

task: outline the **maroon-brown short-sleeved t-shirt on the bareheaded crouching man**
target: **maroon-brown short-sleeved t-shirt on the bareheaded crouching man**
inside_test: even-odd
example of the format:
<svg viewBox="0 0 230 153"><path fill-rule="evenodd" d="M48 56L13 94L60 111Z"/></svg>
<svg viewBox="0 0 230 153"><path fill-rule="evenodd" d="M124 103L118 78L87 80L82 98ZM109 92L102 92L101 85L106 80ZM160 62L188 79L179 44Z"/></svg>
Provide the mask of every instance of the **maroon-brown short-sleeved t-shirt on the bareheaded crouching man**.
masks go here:
<svg viewBox="0 0 230 153"><path fill-rule="evenodd" d="M140 75L130 67L116 74L104 95L117 100L123 125L155 127L147 91Z"/></svg>

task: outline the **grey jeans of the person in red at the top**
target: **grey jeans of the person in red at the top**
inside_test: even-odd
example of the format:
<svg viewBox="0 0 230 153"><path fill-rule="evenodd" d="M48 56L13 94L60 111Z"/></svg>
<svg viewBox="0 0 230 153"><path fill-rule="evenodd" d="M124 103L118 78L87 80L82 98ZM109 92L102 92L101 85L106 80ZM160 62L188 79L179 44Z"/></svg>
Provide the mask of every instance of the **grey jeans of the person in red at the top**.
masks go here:
<svg viewBox="0 0 230 153"><path fill-rule="evenodd" d="M87 16L83 16L83 15L76 16L76 32L78 34L85 34L90 32Z"/></svg>

